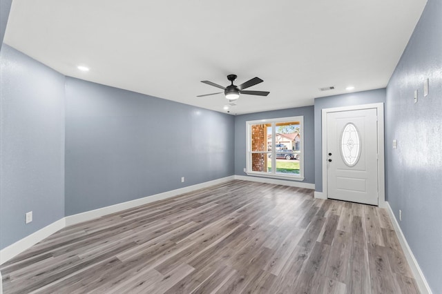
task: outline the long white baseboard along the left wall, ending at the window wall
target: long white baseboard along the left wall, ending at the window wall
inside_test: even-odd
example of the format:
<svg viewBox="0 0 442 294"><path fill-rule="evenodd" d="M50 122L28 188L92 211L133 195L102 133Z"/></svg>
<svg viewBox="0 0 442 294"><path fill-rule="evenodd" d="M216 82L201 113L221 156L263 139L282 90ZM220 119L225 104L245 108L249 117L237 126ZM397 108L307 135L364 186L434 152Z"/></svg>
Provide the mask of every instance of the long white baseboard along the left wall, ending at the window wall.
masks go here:
<svg viewBox="0 0 442 294"><path fill-rule="evenodd" d="M66 226L71 226L73 224L78 224L80 222L86 222L90 219L95 219L97 217L102 217L104 215L109 215L111 213L117 213L118 211L141 206L141 205L155 202L158 200L163 200L163 199L167 199L170 197L175 197L177 195L189 193L191 191L198 190L201 188L207 188L207 187L210 187L210 186L213 186L216 184L222 184L224 182L229 182L232 179L233 179L233 175L229 176L229 177L223 177L221 179L215 179L215 180L209 181L209 182L204 182L201 184L196 184L193 186L187 186L187 187L179 188L176 190L170 190L170 191L167 191L164 193L159 193L159 194L147 196L147 197L143 197L140 199L131 200L128 202L122 202L122 203L111 205L111 206L106 206L106 207L102 207L102 208L98 208L98 209L94 209L94 210L89 210L89 211L86 211L85 213L77 213L76 215L69 215L68 217L65 217L66 218Z"/></svg>

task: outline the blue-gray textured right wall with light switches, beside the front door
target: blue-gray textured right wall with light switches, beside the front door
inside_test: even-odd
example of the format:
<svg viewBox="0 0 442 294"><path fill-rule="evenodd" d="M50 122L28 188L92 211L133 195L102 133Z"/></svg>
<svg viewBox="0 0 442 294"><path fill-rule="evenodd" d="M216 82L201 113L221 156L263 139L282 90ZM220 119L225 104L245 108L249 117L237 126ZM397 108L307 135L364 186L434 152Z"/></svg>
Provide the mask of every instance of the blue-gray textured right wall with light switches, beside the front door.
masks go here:
<svg viewBox="0 0 442 294"><path fill-rule="evenodd" d="M399 225L433 293L442 293L441 30L442 1L428 0L387 86L385 113L387 199L396 219L402 210ZM427 77L430 92L423 97Z"/></svg>

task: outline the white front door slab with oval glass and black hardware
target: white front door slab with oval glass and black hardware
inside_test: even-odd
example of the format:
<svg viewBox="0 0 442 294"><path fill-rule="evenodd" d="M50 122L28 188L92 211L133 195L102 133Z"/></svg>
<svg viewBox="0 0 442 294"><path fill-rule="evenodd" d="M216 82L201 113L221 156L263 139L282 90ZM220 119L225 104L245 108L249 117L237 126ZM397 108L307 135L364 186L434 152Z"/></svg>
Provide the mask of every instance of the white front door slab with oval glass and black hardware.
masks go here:
<svg viewBox="0 0 442 294"><path fill-rule="evenodd" d="M377 109L327 113L327 195L378 205Z"/></svg>

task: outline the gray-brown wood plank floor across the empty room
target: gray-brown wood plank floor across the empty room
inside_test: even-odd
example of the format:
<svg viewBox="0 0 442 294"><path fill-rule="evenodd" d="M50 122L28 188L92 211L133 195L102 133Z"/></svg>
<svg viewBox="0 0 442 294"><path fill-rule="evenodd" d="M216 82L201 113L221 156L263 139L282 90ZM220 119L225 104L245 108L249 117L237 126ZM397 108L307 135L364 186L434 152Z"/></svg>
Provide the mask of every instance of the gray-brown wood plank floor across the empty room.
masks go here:
<svg viewBox="0 0 442 294"><path fill-rule="evenodd" d="M387 211L231 181L68 226L3 293L419 293Z"/></svg>

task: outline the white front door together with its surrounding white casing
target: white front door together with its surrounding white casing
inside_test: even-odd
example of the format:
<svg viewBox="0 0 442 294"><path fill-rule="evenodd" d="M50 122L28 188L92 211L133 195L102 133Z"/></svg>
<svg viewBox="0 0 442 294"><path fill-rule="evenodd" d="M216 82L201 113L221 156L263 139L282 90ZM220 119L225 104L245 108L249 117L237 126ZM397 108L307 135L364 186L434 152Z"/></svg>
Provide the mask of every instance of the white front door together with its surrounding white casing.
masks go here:
<svg viewBox="0 0 442 294"><path fill-rule="evenodd" d="M385 207L383 104L327 108L322 119L323 192L315 195Z"/></svg>

